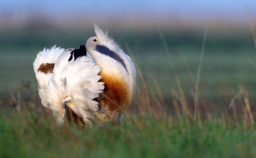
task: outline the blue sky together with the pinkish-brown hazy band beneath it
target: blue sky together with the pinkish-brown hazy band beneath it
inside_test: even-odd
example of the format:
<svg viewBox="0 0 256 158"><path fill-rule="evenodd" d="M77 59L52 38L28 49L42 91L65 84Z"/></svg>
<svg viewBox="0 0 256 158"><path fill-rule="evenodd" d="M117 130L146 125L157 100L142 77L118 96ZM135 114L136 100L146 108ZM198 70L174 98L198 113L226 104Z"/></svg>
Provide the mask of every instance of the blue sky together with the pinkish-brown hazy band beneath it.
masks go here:
<svg viewBox="0 0 256 158"><path fill-rule="evenodd" d="M55 23L70 21L94 21L103 23L125 21L202 22L202 21L248 21L246 5L249 6L253 22L256 17L256 1L1 1L0 21L4 23L26 23L46 19ZM153 21L154 22L154 21ZM152 22L152 23L153 23ZM91 22L90 22L91 23ZM2 23L3 24L3 23ZM3 24L4 25L4 24Z"/></svg>

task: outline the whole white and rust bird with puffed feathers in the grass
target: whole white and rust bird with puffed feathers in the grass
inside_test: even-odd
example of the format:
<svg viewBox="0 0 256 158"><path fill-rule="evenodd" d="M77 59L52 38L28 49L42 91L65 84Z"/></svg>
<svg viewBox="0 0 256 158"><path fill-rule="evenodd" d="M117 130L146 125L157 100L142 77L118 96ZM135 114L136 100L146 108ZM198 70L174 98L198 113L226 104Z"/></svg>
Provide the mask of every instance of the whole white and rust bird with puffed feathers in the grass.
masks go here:
<svg viewBox="0 0 256 158"><path fill-rule="evenodd" d="M131 106L134 63L107 31L95 25L95 34L79 49L45 48L33 62L41 103L59 125L65 119L90 127L119 122Z"/></svg>

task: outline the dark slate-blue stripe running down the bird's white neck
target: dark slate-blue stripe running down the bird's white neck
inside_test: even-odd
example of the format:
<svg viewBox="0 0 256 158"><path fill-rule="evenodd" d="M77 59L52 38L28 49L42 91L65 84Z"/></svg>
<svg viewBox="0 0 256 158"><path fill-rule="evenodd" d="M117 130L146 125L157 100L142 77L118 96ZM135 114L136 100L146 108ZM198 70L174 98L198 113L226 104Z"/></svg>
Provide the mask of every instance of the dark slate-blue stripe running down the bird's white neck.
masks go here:
<svg viewBox="0 0 256 158"><path fill-rule="evenodd" d="M124 60L122 60L121 57L119 57L117 55L117 53L113 52L112 50L108 49L107 47L105 47L104 45L97 45L96 46L96 50L97 52L102 53L103 55L107 55L109 57L112 57L114 60L117 60L117 62L120 62L123 66L124 69L127 71L127 67L124 64ZM128 71L127 71L128 72Z"/></svg>

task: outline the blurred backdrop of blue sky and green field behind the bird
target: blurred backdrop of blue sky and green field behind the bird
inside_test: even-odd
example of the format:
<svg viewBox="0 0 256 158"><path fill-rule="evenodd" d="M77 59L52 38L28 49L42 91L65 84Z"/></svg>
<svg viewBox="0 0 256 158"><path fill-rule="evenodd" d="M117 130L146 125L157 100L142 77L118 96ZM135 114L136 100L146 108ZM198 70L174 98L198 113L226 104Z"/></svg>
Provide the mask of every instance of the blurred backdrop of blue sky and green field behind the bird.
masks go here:
<svg viewBox="0 0 256 158"><path fill-rule="evenodd" d="M131 50L147 91L165 103L171 102L171 91L178 91L174 72L192 100L208 23L200 96L210 103L226 104L240 86L249 91L250 101L256 101L253 0L1 0L1 100L16 95L17 87L21 87L23 101L38 97L33 72L37 53L53 45L85 45L87 38L95 35L94 23L108 30L124 52ZM140 89L139 77L137 82Z"/></svg>

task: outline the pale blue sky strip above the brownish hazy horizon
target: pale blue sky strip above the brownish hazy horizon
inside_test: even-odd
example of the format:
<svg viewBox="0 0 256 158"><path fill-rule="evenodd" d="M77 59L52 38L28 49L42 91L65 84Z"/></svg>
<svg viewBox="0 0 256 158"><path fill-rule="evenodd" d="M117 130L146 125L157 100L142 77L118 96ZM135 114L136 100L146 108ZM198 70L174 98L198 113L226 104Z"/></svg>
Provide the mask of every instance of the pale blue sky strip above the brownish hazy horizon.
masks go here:
<svg viewBox="0 0 256 158"><path fill-rule="evenodd" d="M40 14L51 18L80 15L243 19L247 17L246 5L256 18L255 0L1 0L0 18L26 19Z"/></svg>

